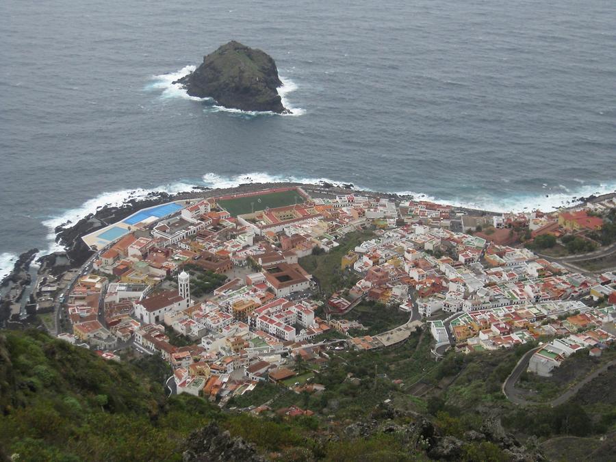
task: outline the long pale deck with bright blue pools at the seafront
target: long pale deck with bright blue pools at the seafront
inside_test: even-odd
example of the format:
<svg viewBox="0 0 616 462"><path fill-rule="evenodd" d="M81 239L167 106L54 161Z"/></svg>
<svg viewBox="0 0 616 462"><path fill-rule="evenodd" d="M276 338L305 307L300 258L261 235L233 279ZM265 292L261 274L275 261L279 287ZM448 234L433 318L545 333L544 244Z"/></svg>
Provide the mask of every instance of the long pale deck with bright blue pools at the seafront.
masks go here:
<svg viewBox="0 0 616 462"><path fill-rule="evenodd" d="M88 247L92 248L92 246L96 246L96 248L100 250L135 229L139 229L147 224L176 214L183 209L184 204L185 201L172 201L166 204L140 209L123 220L110 224L98 231L94 231L94 233L82 236L81 239L84 240Z"/></svg>

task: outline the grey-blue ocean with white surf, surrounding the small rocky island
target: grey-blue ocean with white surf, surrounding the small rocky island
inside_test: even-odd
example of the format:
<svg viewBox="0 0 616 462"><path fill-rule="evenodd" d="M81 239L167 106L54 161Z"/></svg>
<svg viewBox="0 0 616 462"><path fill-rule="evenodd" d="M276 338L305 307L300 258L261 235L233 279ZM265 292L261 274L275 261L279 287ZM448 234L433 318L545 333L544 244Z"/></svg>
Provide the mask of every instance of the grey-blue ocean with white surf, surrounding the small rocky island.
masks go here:
<svg viewBox="0 0 616 462"><path fill-rule="evenodd" d="M0 3L0 274L150 190L353 183L497 211L616 189L616 2ZM171 81L239 40L292 114Z"/></svg>

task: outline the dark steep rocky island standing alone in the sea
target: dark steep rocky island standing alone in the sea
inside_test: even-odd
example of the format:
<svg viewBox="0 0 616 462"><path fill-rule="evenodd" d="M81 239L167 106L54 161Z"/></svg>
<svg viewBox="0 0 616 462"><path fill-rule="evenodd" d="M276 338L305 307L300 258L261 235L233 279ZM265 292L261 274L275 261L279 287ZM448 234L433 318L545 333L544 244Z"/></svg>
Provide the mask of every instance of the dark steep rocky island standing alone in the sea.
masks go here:
<svg viewBox="0 0 616 462"><path fill-rule="evenodd" d="M283 83L272 57L235 40L205 56L193 73L173 83L183 85L192 97L214 98L224 107L289 112L277 91Z"/></svg>

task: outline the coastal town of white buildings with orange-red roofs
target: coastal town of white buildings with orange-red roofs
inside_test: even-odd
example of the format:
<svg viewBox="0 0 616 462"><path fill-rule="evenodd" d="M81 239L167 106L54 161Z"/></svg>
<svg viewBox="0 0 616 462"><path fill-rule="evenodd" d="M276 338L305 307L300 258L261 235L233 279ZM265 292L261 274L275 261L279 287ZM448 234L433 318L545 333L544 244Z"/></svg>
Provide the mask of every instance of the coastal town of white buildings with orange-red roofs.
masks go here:
<svg viewBox="0 0 616 462"><path fill-rule="evenodd" d="M435 360L540 341L527 366L540 376L616 338L616 273L597 266L614 261L614 198L473 214L311 193L175 201L83 236L95 253L66 289L38 287L60 302L57 337L111 361L127 349L160 355L168 392L221 406L263 382L318 392L335 350L390 348L418 331ZM327 255L334 264L320 265Z"/></svg>

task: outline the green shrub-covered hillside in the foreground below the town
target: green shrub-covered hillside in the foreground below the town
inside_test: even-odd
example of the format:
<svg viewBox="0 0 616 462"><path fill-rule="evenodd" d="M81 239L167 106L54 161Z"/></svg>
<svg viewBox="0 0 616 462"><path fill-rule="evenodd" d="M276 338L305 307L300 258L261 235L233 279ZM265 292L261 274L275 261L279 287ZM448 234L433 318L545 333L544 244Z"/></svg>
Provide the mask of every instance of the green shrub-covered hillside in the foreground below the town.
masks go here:
<svg viewBox="0 0 616 462"><path fill-rule="evenodd" d="M274 413L257 417L247 409L224 412L191 396L166 398L160 384L168 370L156 357L107 362L38 331L1 331L0 456L20 454L28 461L530 461L543 459L541 447L567 460L551 443L564 435L586 438L598 457L613 444L613 437L604 443L598 439L613 431L610 400L578 397L555 409L523 410L504 399L498 383L524 350L449 355L430 363L427 346L418 333L383 352L341 352L329 368L315 371L326 385L324 394L259 385L244 402L232 403L240 408L275 397L274 409L297 405L314 411L290 419ZM605 391L611 374L601 380ZM411 396L421 389L413 385L417 378L429 389L422 398Z"/></svg>

